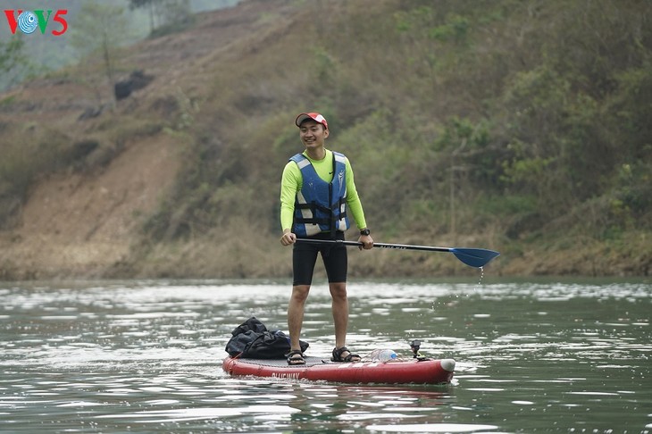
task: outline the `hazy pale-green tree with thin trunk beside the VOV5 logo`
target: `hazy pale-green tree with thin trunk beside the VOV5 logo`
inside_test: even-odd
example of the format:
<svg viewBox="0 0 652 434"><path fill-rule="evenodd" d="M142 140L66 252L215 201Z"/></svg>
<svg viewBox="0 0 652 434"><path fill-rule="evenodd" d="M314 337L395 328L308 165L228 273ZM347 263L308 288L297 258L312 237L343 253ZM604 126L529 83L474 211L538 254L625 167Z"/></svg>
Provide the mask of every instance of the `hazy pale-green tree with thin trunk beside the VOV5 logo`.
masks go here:
<svg viewBox="0 0 652 434"><path fill-rule="evenodd" d="M129 38L129 26L124 8L96 2L85 3L75 27L71 44L82 56L100 54L104 63L104 74L112 89L115 84L115 50Z"/></svg>

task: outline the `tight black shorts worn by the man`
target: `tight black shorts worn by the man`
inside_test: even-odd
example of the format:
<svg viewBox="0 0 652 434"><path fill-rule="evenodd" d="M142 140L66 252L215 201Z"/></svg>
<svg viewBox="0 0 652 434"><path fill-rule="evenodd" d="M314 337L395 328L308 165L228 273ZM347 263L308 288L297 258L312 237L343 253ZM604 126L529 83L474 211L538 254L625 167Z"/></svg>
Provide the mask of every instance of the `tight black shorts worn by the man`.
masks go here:
<svg viewBox="0 0 652 434"><path fill-rule="evenodd" d="M317 234L313 239L332 239L330 233ZM344 232L336 232L337 239L344 239ZM317 254L322 254L324 268L329 282L347 281L347 246L343 244L310 244L295 243L292 249L292 270L294 272L293 285L310 285L313 283L314 264Z"/></svg>

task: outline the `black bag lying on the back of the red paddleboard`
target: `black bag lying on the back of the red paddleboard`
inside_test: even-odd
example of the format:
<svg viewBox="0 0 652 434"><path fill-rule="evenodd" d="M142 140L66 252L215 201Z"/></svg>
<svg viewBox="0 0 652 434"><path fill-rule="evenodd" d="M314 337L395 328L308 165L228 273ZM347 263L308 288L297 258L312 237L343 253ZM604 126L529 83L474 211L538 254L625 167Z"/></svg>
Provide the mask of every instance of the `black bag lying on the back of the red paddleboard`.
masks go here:
<svg viewBox="0 0 652 434"><path fill-rule="evenodd" d="M247 359L282 359L289 353L289 338L280 330L267 330L263 322L252 316L231 331L231 338L226 344L231 357ZM299 341L303 353L309 346Z"/></svg>

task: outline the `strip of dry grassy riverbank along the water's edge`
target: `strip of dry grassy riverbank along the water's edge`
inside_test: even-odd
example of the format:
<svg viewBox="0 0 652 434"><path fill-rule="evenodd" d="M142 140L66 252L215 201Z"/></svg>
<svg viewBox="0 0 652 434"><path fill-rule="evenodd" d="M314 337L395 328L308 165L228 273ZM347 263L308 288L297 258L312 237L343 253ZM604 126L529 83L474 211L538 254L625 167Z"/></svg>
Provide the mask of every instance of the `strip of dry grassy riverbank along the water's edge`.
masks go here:
<svg viewBox="0 0 652 434"><path fill-rule="evenodd" d="M129 242L74 243L56 238L7 240L0 256L0 280L51 279L289 279L291 251L276 238L202 239L157 245ZM383 240L384 241L384 240ZM650 275L652 252L646 235L614 243L577 242L571 248L491 246L501 252L484 267L488 276L602 276ZM434 243L433 243L434 245ZM7 248L7 246L10 246ZM454 255L375 249L349 250L352 279L399 279L475 276ZM318 263L316 278L323 277Z"/></svg>

